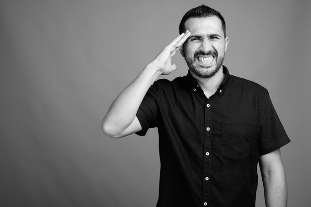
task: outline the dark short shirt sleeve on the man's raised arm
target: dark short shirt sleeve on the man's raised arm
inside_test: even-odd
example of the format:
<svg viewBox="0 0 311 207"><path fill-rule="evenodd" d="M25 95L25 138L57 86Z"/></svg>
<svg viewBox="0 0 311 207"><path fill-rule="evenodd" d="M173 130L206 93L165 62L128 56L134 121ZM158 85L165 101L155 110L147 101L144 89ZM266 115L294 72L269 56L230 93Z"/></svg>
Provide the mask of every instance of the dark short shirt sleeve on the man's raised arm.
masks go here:
<svg viewBox="0 0 311 207"><path fill-rule="evenodd" d="M145 95L139 109L136 113L136 117L138 118L142 130L136 132L139 136L146 135L149 128L156 127L156 120L157 120L157 96L159 89L159 81L156 81L148 90L147 94Z"/></svg>

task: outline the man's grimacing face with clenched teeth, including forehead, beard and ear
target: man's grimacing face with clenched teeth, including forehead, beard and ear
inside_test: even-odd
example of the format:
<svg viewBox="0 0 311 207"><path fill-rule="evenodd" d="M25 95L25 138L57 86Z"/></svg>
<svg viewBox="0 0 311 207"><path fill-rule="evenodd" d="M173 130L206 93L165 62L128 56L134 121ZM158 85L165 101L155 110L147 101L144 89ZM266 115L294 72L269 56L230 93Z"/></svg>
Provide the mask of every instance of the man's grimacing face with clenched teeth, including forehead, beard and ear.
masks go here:
<svg viewBox="0 0 311 207"><path fill-rule="evenodd" d="M190 18L185 22L190 37L181 47L181 54L195 75L210 78L223 64L229 42L225 38L221 20L216 17Z"/></svg>

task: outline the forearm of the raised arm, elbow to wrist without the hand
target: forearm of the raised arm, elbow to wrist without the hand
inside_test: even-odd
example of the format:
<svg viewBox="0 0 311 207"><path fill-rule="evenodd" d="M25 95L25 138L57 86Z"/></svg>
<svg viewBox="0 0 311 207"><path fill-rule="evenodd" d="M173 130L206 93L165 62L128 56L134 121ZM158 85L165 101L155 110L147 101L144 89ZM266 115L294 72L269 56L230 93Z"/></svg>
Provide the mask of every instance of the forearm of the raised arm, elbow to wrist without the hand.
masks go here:
<svg viewBox="0 0 311 207"><path fill-rule="evenodd" d="M121 92L102 121L102 129L107 135L118 136L133 122L144 96L159 75L158 69L152 63L148 64Z"/></svg>

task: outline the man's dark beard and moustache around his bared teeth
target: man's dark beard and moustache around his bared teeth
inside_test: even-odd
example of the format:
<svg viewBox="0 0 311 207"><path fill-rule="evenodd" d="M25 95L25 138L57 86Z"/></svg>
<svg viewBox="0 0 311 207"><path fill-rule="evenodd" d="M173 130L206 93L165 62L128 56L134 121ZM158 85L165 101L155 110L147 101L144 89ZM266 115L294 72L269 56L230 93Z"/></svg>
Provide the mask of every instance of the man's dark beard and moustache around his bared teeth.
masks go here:
<svg viewBox="0 0 311 207"><path fill-rule="evenodd" d="M195 60L198 59L199 55L214 55L214 59L216 60L216 64L211 66L201 66L198 63L195 63ZM186 63L189 69L200 78L210 78L213 77L223 65L225 54L223 56L219 56L217 52L195 52L193 58L185 58ZM213 68L214 67L214 68Z"/></svg>

